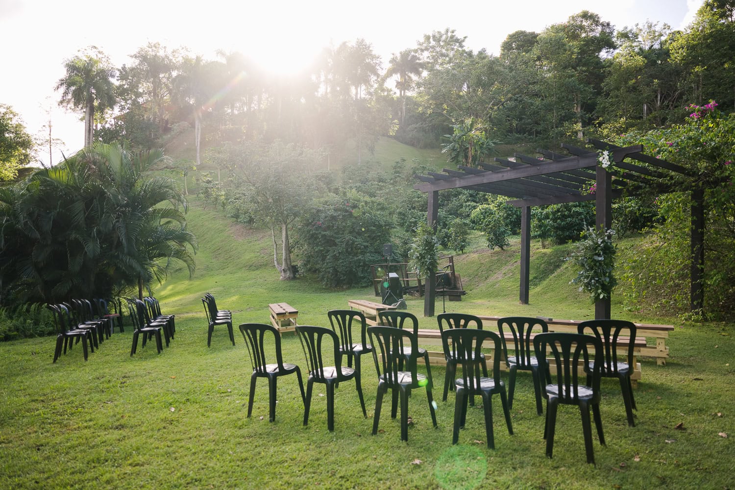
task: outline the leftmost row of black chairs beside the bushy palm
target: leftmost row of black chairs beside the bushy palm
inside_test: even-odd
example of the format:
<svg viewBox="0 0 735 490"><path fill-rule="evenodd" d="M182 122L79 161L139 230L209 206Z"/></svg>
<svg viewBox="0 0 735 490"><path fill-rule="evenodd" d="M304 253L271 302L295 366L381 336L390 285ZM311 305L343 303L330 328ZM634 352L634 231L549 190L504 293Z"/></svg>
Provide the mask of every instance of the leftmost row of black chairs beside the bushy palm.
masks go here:
<svg viewBox="0 0 735 490"><path fill-rule="evenodd" d="M110 313L108 300L74 299L68 302L48 304L56 325L57 337L54 348L54 362L59 359L62 348L64 354L73 344L82 342L85 361L89 352L94 352L104 339L112 335L113 321L119 318L117 311ZM123 331L121 323L120 330Z"/></svg>

